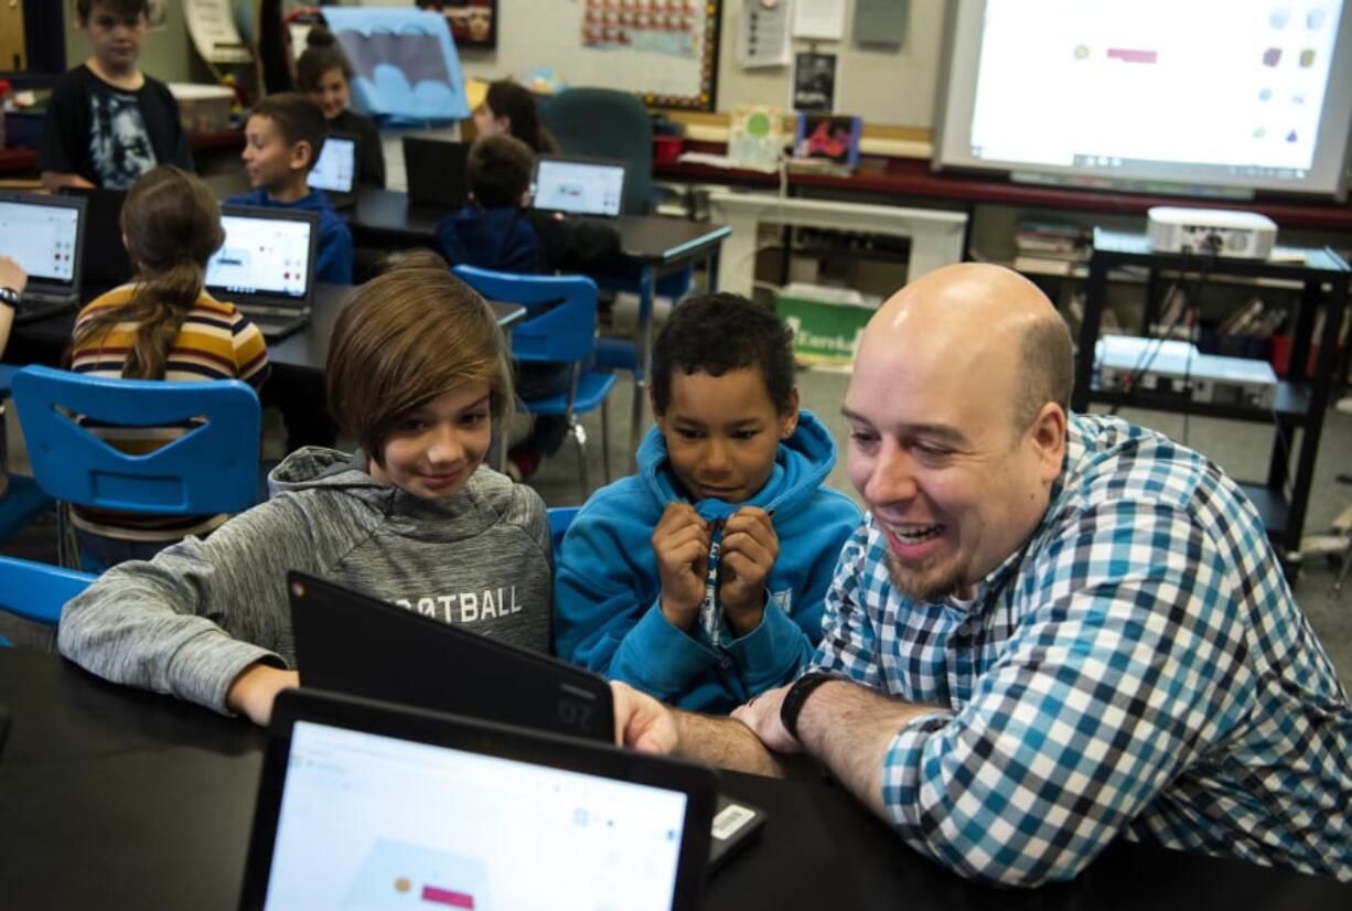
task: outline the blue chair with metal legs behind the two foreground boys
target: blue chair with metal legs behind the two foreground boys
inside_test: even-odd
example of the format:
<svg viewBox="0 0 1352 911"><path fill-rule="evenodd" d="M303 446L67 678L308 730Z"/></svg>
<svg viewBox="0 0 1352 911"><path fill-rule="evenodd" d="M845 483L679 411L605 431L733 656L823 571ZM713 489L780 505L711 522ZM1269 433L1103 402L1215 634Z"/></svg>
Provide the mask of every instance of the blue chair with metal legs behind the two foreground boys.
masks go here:
<svg viewBox="0 0 1352 911"><path fill-rule="evenodd" d="M489 300L526 307L526 319L511 330L511 351L518 361L572 364L566 393L531 399L522 405L531 415L554 415L568 420L568 433L577 443L577 465L583 491L591 491L587 469L587 431L577 415L600 410L602 465L610 481L610 427L606 399L615 387L608 370L583 369L596 341L596 282L585 276L516 276L475 266L456 266L456 276ZM507 441L502 441L499 464L506 468Z"/></svg>

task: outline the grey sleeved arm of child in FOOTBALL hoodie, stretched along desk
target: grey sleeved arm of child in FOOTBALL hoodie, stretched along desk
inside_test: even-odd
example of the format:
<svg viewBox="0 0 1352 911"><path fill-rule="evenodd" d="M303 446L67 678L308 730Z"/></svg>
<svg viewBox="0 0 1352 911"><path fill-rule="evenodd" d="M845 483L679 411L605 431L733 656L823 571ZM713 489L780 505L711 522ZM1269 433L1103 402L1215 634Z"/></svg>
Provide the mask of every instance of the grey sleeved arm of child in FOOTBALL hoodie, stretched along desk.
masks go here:
<svg viewBox="0 0 1352 911"><path fill-rule="evenodd" d="M66 604L61 653L115 683L227 711L226 693L257 662L291 660L288 569L323 572L343 546L281 496L187 538L150 562L120 564Z"/></svg>

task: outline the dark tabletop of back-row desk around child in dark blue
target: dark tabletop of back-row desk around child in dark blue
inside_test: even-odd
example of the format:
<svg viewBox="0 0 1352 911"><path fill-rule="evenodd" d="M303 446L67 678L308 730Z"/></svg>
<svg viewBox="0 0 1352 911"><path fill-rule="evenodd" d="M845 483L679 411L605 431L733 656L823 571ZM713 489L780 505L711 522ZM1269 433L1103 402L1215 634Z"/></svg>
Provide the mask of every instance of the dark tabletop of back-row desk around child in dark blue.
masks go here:
<svg viewBox="0 0 1352 911"><path fill-rule="evenodd" d="M437 226L448 211L414 205L408 193L361 187L357 205L339 212L352 226L358 245L380 241L406 245L437 245ZM727 237L721 224L691 222L664 215L621 215L595 219L614 226L621 254L635 264L665 264L685 260Z"/></svg>

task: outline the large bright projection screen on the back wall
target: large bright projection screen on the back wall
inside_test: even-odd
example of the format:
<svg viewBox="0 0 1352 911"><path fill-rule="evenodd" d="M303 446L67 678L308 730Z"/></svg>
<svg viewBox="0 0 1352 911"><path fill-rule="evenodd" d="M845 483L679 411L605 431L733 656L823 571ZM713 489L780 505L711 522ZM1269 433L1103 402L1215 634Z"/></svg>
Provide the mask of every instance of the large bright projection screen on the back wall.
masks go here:
<svg viewBox="0 0 1352 911"><path fill-rule="evenodd" d="M960 4L941 165L1334 193L1341 0Z"/></svg>

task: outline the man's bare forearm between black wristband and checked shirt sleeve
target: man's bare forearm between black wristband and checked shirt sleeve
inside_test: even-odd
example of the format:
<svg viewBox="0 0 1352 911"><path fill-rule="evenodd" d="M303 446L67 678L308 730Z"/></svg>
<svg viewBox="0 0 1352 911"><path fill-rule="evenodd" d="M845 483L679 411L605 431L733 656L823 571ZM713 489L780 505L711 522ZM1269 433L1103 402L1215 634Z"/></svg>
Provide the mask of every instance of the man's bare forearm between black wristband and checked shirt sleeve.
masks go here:
<svg viewBox="0 0 1352 911"><path fill-rule="evenodd" d="M846 680L825 683L808 695L798 716L803 749L883 819L883 761L907 722L942 711L880 693Z"/></svg>

